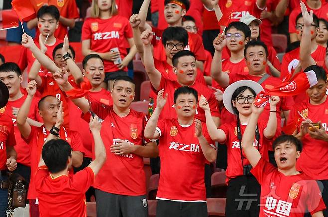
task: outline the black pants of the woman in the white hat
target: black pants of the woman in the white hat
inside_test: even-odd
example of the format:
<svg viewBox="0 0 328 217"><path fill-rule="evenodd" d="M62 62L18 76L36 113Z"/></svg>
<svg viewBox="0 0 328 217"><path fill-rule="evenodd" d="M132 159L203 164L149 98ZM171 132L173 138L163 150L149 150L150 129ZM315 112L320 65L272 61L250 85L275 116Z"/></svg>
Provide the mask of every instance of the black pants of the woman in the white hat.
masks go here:
<svg viewBox="0 0 328 217"><path fill-rule="evenodd" d="M261 186L254 176L238 176L228 184L226 217L258 217Z"/></svg>

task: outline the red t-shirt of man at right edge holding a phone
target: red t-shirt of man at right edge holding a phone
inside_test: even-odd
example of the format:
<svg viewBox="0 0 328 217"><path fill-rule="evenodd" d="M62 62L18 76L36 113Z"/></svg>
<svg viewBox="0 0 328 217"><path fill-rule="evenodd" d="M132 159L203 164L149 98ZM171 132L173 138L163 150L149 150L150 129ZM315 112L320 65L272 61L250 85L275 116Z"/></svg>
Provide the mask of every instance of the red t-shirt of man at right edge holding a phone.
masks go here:
<svg viewBox="0 0 328 217"><path fill-rule="evenodd" d="M289 113L288 123L300 118L297 111L301 112L304 118L309 118L314 123L320 121L325 131L328 131L328 98L320 105L312 105L309 100L296 104ZM302 139L302 143L302 153L296 162L298 171L303 171L312 179L328 179L327 142L313 139L309 134L306 134Z"/></svg>

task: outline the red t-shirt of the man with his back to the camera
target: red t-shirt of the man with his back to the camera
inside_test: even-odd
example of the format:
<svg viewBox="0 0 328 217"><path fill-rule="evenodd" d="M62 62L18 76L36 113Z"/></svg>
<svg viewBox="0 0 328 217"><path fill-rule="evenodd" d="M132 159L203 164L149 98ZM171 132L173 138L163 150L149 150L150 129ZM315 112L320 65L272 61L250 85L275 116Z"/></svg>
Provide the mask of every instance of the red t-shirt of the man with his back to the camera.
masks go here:
<svg viewBox="0 0 328 217"><path fill-rule="evenodd" d="M46 166L39 167L35 174L35 187L40 217L86 217L85 192L94 179L95 174L90 167L74 175L56 178L52 178Z"/></svg>

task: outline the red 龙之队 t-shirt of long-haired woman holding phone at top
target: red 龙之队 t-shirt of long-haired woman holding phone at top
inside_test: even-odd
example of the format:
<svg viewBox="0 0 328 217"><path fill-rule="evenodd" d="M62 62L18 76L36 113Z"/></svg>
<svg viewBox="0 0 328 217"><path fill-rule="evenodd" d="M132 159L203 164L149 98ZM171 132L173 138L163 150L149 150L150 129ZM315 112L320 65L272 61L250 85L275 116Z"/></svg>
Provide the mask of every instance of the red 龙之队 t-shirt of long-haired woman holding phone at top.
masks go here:
<svg viewBox="0 0 328 217"><path fill-rule="evenodd" d="M118 48L121 59L127 56L126 39L132 38L132 28L129 20L116 15L109 19L86 18L82 27L81 40L90 40L90 49L100 53L110 52ZM113 61L104 59L105 72L115 72L119 68ZM124 71L127 71L124 68Z"/></svg>

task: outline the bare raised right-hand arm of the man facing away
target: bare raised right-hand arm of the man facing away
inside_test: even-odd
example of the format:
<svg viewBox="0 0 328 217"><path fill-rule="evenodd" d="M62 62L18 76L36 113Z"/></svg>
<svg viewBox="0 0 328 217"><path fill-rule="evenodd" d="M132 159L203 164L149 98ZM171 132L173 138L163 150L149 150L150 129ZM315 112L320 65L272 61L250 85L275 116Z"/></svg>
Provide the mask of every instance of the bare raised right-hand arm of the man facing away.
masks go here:
<svg viewBox="0 0 328 217"><path fill-rule="evenodd" d="M100 136L101 124L97 115L94 118L90 117L89 126L95 143L95 159L89 164L89 167L97 175L106 161L106 149Z"/></svg>

